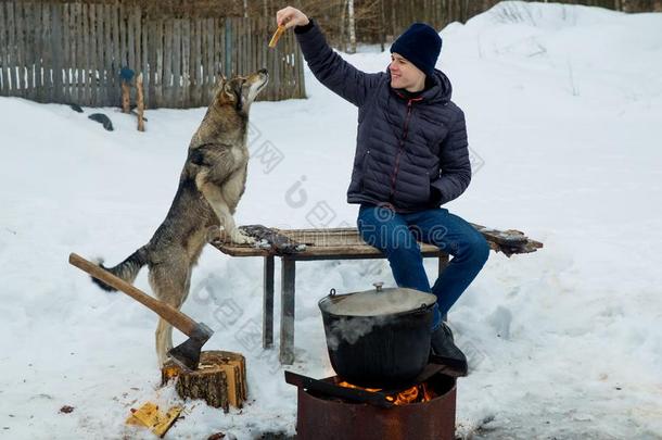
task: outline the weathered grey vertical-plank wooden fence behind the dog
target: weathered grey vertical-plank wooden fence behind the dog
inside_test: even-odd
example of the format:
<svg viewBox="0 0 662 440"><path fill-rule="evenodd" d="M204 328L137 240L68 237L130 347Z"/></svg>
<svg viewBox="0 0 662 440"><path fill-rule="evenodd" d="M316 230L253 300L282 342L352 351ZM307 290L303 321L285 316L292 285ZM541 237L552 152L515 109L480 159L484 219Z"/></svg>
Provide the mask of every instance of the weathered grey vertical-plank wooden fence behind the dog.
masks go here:
<svg viewBox="0 0 662 440"><path fill-rule="evenodd" d="M151 108L206 106L219 74L269 71L262 100L304 98L293 33L273 20L150 16L122 3L0 1L0 96L120 105L119 71L143 74Z"/></svg>

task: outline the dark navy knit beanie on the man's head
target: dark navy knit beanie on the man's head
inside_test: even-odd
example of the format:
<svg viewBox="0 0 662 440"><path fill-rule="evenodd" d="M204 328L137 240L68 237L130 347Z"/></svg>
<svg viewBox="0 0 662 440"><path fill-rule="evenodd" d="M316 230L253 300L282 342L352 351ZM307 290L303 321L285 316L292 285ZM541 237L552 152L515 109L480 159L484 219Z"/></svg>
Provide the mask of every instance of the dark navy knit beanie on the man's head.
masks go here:
<svg viewBox="0 0 662 440"><path fill-rule="evenodd" d="M405 56L428 76L434 73L441 51L442 37L424 23L409 26L391 46L391 53L396 52Z"/></svg>

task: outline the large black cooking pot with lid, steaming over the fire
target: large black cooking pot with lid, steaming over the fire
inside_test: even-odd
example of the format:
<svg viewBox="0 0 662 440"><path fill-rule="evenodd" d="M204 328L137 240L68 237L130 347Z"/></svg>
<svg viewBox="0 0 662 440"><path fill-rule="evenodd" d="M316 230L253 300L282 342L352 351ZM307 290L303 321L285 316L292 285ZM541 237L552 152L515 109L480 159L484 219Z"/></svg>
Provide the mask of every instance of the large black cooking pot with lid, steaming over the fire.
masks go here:
<svg viewBox="0 0 662 440"><path fill-rule="evenodd" d="M319 301L327 348L335 373L362 387L407 385L428 364L436 297L413 289L382 288Z"/></svg>

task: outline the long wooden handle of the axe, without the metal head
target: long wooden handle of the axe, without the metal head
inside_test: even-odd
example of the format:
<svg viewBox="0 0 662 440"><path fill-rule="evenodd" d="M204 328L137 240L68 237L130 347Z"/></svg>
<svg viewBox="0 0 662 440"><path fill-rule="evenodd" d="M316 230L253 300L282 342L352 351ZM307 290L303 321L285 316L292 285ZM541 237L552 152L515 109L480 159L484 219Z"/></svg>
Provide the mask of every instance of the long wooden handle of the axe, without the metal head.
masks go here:
<svg viewBox="0 0 662 440"><path fill-rule="evenodd" d="M184 335L190 337L193 330L198 327L198 323L195 323L193 319L191 319L177 309L173 307L169 304L166 304L163 301L158 301L157 299L150 297L142 290L131 286L124 279L116 277L110 272L99 267L97 264L85 260L82 256L72 253L69 254L69 263L78 267L79 269L87 272L94 278L102 280L106 285L125 292L136 301L147 305L158 316L170 323L173 326L177 327Z"/></svg>

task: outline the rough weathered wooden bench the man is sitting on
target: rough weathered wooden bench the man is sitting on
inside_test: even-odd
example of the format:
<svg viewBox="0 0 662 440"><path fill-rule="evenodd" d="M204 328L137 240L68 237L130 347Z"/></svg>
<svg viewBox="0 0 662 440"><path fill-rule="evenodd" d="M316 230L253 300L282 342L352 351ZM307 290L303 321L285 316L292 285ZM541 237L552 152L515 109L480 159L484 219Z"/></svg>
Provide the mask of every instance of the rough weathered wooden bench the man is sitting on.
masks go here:
<svg viewBox="0 0 662 440"><path fill-rule="evenodd" d="M492 250L514 253L535 252L543 243L514 229L496 230L472 224L487 239ZM262 225L241 226L240 229L257 240L262 247L215 241L212 244L231 256L262 256L264 259L263 347L273 344L273 261L281 259L280 353L281 364L294 362L294 299L297 261L384 259L384 254L359 236L356 228L277 229ZM437 247L419 243L423 257L438 259L441 274L449 255ZM369 288L368 286L366 287Z"/></svg>

